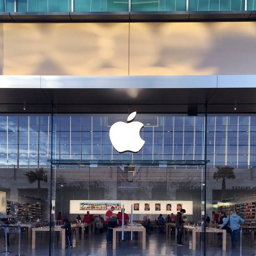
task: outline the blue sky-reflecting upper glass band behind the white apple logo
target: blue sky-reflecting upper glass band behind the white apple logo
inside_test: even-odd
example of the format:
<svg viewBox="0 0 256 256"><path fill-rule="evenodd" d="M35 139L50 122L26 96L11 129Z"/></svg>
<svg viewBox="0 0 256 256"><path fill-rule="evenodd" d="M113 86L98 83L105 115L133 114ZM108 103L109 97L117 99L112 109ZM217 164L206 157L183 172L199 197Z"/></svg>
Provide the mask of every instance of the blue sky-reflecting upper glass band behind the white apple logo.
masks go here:
<svg viewBox="0 0 256 256"><path fill-rule="evenodd" d="M204 160L205 138L209 167L255 164L255 116L208 116L205 132L204 116L137 114L136 121L144 124L140 136L145 144L136 154L120 154L110 142L109 129L126 118L126 114L2 115L0 165L49 167L47 160L51 158Z"/></svg>

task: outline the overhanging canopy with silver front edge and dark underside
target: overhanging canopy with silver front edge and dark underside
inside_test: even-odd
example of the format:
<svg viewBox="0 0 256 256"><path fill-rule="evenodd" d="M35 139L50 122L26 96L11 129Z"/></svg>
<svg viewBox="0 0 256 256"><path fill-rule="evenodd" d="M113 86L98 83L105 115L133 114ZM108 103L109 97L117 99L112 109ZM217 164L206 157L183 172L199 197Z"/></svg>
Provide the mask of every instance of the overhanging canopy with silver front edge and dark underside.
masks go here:
<svg viewBox="0 0 256 256"><path fill-rule="evenodd" d="M0 92L0 112L256 112L256 75L0 76Z"/></svg>

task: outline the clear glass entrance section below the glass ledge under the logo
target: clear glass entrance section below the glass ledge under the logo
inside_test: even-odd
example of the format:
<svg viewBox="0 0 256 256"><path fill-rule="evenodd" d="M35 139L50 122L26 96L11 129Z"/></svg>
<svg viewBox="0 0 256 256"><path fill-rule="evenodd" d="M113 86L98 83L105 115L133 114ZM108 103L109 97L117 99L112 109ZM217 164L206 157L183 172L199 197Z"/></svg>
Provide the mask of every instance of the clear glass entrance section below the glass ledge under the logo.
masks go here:
<svg viewBox="0 0 256 256"><path fill-rule="evenodd" d="M74 227L72 250L84 255L106 255L106 251L107 255L156 255L156 250L158 255L178 255L177 212L186 210L182 216L186 225L201 226L204 218L204 165L73 165L58 166L53 173L55 226L60 224L57 218L61 212L62 224L67 218ZM124 206L129 222L143 224L143 220L149 220L145 249L139 232L133 233L132 240L131 233L126 232L125 242L117 232L113 250L111 238L107 242L106 224L111 206L116 214ZM104 219L102 225L97 224L97 216ZM84 226L84 220L90 225ZM55 255L62 251L57 233L52 232ZM186 231L182 241L192 253L192 233ZM204 236L196 245L196 253L204 255Z"/></svg>

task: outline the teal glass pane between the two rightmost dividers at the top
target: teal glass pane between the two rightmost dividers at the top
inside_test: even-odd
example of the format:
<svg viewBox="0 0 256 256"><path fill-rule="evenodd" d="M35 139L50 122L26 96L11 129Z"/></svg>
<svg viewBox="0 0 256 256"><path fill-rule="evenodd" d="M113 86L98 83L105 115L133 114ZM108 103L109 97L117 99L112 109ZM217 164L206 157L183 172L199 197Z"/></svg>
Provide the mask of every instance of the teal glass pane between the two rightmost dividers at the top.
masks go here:
<svg viewBox="0 0 256 256"><path fill-rule="evenodd" d="M189 11L244 11L244 0L189 0Z"/></svg>

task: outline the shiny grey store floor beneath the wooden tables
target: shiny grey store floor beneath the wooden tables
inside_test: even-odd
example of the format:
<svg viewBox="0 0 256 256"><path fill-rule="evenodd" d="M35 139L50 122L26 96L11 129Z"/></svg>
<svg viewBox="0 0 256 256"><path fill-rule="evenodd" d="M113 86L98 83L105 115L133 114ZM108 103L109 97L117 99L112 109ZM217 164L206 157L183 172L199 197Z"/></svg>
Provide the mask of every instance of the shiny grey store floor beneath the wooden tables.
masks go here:
<svg viewBox="0 0 256 256"><path fill-rule="evenodd" d="M45 232L42 232L45 233ZM177 246L174 232L172 236L166 238L166 234L154 231L151 235L146 235L146 250L142 250L142 244L137 239L137 234L134 234L134 240L126 242L117 242L116 250L112 249L112 244L106 243L106 233L88 235L85 234L84 240L79 239L75 242L73 236L73 248L61 250L60 243L57 244L56 237L53 238L52 248L49 249L49 238L47 234L37 234L36 249L31 249L31 240L27 240L24 234L21 235L20 252L18 250L18 236L13 234L10 237L10 247L6 254L4 247L4 237L0 236L0 252L2 255L10 256L250 256L256 253L256 242L251 242L249 232L242 234L242 251L240 253L240 235L238 235L238 244L236 250L231 250L230 236L227 236L227 250L222 251L219 248L218 238L216 234L209 234L206 250L204 251L204 242L200 244L198 238L196 251L192 250L192 237L186 235L184 237L183 247ZM2 247L2 248L1 248Z"/></svg>

